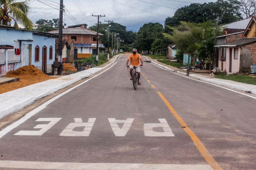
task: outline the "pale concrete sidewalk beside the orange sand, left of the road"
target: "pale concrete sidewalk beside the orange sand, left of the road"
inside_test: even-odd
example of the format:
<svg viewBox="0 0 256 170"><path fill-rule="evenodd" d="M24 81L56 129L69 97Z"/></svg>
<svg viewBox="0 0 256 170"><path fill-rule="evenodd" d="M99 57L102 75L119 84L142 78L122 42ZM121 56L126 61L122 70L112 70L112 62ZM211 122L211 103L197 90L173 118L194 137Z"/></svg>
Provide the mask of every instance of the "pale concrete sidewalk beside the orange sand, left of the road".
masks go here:
<svg viewBox="0 0 256 170"><path fill-rule="evenodd" d="M118 56L119 55L113 56L112 59L110 59L107 63L104 63L98 67L0 94L0 119L28 106L37 99L50 95L53 92L72 85L82 78L89 77L101 70L104 70L113 64Z"/></svg>

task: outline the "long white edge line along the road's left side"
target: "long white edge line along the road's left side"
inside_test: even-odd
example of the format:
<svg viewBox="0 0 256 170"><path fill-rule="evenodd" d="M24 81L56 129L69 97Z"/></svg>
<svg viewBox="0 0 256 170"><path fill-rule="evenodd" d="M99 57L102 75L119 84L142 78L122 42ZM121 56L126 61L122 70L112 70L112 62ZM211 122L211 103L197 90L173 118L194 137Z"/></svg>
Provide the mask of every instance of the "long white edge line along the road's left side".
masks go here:
<svg viewBox="0 0 256 170"><path fill-rule="evenodd" d="M116 62L117 63L117 62ZM85 80L84 82L68 89L67 91L55 96L54 98L46 101L44 104L36 107L34 110L28 112L24 117L22 117L21 119L19 119L18 121L12 123L11 125L9 125L8 127L4 128L3 130L0 131L0 138L3 137L5 134L7 134L8 132L10 132L12 129L16 128L17 126L19 126L21 123L25 122L26 120L28 120L31 116L35 115L36 113L38 113L39 111L43 110L48 104L52 103L54 100L60 98L61 96L63 96L64 94L70 92L71 90L75 89L76 87L83 85L84 83L88 82L89 80L99 76L100 74L104 73L105 71L109 70L111 67L113 67L116 63L114 63L112 66L110 66L108 69L102 71L101 73L93 76L92 78L89 78L88 80Z"/></svg>

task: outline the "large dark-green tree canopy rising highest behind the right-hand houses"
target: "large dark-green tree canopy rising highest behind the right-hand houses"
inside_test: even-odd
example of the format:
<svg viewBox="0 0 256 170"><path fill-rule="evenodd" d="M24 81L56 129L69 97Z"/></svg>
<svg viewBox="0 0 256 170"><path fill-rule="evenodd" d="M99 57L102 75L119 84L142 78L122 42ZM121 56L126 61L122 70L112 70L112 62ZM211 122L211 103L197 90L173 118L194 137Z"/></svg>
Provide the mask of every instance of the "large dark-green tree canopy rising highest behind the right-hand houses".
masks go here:
<svg viewBox="0 0 256 170"><path fill-rule="evenodd" d="M208 4L193 3L179 8L172 18L167 17L164 27L178 26L180 21L202 23L211 20L215 22L217 17L220 24L227 24L242 19L240 9L241 5L237 0L217 0ZM167 30L164 31L167 32Z"/></svg>

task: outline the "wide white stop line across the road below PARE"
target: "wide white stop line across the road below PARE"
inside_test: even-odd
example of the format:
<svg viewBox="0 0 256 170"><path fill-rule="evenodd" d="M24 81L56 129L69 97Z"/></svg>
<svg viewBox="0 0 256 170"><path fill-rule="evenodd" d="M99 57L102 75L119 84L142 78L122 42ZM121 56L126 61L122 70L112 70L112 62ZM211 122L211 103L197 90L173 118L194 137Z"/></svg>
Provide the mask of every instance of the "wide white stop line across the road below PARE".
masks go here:
<svg viewBox="0 0 256 170"><path fill-rule="evenodd" d="M212 170L207 164L133 164L133 163L76 163L76 162L38 162L38 161L8 161L0 160L0 167L3 168L24 168L24 169L63 169L63 170Z"/></svg>

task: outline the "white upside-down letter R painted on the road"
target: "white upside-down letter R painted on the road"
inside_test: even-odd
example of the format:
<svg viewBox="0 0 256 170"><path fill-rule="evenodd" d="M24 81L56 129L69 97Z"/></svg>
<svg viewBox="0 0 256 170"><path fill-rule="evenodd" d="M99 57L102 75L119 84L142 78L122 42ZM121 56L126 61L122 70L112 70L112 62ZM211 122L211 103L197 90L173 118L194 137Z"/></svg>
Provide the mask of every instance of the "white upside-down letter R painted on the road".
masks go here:
<svg viewBox="0 0 256 170"><path fill-rule="evenodd" d="M60 133L60 136L88 137L96 118L89 118L88 122L83 122L82 118L74 118L75 123L69 123ZM84 127L83 131L74 131L76 127Z"/></svg>

